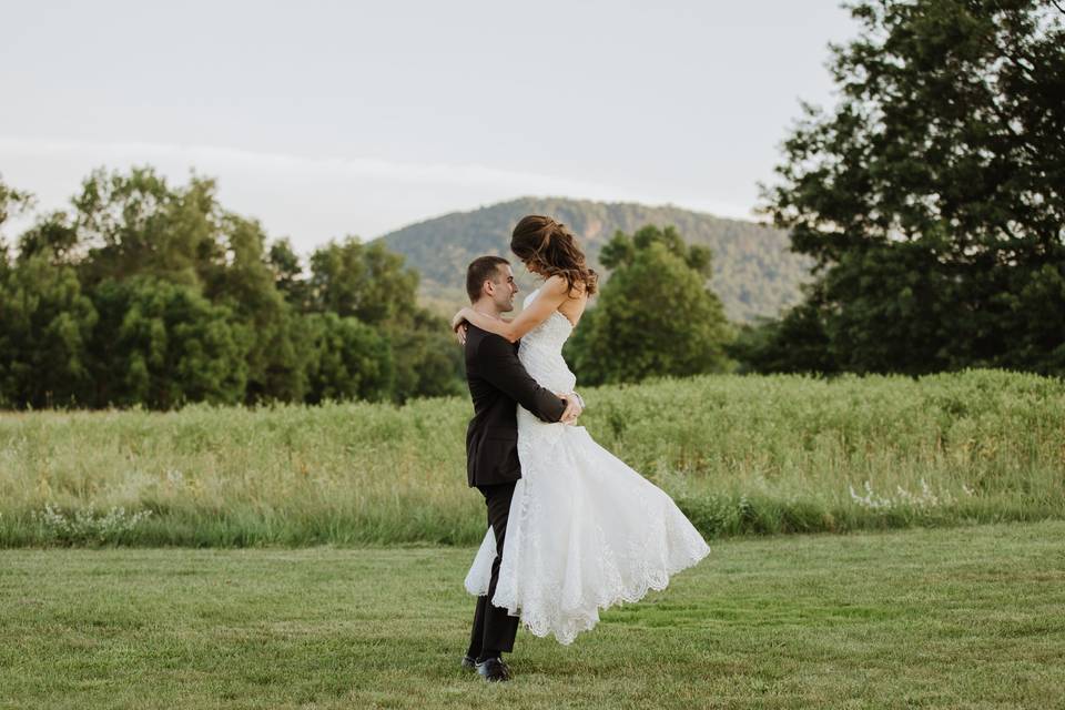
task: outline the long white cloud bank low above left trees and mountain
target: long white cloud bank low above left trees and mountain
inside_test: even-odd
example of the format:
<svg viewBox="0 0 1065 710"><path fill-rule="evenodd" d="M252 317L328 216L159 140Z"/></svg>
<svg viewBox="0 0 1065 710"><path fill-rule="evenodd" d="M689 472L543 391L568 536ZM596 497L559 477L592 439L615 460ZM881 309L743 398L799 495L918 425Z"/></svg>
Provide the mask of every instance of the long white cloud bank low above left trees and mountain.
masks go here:
<svg viewBox="0 0 1065 710"><path fill-rule="evenodd" d="M662 203L630 189L478 164L403 163L365 158L311 158L211 145L92 142L0 136L0 174L38 196L42 210L62 207L99 166L153 165L176 182L190 170L219 180L227 209L258 219L272 236L301 251L346 234L378 236L412 222L473 210L520 195ZM673 201L674 203L677 201ZM678 203L679 204L679 203ZM730 205L692 209L741 216ZM17 231L19 225L12 225Z"/></svg>

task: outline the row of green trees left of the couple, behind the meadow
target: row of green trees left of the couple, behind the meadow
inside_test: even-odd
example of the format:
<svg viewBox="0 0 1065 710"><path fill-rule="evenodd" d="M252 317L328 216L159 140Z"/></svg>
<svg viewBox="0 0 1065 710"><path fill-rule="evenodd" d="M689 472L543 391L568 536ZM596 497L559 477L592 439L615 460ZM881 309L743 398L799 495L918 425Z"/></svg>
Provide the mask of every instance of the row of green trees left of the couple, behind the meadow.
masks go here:
<svg viewBox="0 0 1065 710"><path fill-rule="evenodd" d="M0 225L31 196L0 183ZM356 237L314 251L225 210L215 183L92 173L0 242L0 404L172 408L460 392L417 273Z"/></svg>

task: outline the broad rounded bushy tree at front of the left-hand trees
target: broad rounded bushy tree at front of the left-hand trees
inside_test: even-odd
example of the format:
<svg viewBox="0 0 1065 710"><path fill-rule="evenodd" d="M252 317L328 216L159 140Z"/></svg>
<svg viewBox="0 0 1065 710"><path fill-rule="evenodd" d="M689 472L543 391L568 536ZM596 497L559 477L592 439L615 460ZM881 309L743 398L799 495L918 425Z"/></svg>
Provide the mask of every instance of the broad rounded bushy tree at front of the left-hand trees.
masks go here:
<svg viewBox="0 0 1065 710"><path fill-rule="evenodd" d="M192 286L151 276L109 280L94 293L97 406L236 404L247 376L242 326Z"/></svg>

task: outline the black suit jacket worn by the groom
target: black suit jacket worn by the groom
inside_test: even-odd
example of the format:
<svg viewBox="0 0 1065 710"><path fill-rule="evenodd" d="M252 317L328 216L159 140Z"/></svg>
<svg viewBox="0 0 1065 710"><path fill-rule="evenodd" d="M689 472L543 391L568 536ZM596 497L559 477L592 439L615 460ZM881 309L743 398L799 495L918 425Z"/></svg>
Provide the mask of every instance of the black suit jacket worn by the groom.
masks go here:
<svg viewBox="0 0 1065 710"><path fill-rule="evenodd" d="M474 418L466 428L470 487L521 478L517 405L545 422L558 422L566 403L529 376L518 359L517 343L474 325L466 332L466 382L474 399Z"/></svg>

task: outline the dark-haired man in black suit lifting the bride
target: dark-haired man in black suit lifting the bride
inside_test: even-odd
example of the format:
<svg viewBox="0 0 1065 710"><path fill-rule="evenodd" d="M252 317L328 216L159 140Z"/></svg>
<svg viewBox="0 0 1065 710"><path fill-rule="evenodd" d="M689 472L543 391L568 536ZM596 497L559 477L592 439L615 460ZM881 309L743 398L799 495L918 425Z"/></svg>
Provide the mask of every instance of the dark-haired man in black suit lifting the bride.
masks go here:
<svg viewBox="0 0 1065 710"><path fill-rule="evenodd" d="M513 311L518 286L514 283L510 263L500 256L475 258L466 270L466 293L474 310L485 315L499 318L500 314ZM474 418L466 429L466 475L470 487L485 496L497 555L491 564L488 594L477 598L463 667L476 668L486 680L510 680L503 652L514 650L518 617L493 606L489 599L496 592L499 578L510 499L521 477L517 405L545 422L572 423L581 412L580 397L556 396L537 385L518 359L517 344L498 335L467 324L465 348L466 379L474 399Z"/></svg>

